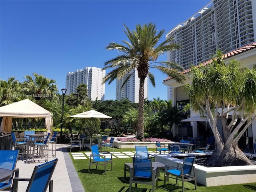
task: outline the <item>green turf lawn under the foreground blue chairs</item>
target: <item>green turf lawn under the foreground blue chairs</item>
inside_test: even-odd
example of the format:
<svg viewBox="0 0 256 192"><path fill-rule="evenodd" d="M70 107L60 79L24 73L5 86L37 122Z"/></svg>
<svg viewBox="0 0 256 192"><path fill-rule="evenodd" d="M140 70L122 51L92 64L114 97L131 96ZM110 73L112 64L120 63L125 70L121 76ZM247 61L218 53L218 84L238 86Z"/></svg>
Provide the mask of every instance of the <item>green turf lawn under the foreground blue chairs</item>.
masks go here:
<svg viewBox="0 0 256 192"><path fill-rule="evenodd" d="M74 150L76 151L76 150ZM118 151L134 151L134 149L116 149ZM155 151L155 149L148 149L148 151ZM129 191L129 173L124 178L124 163L131 163L132 158L113 158L113 171L111 171L111 164L106 166L106 175L104 175L104 166L91 165L90 174L88 173L89 159L74 160L74 167L78 173L78 176L84 186L86 192L128 192ZM164 172L160 173L158 178L158 189L156 192L182 192L181 181L178 182L178 186L175 185L175 180L169 180L164 185ZM226 186L214 186L205 187L197 184L197 192L252 192L256 190L256 183L251 184L237 184ZM132 192L151 192L152 186L138 184L135 188L135 184L132 184ZM195 192L194 182L185 182L186 192Z"/></svg>

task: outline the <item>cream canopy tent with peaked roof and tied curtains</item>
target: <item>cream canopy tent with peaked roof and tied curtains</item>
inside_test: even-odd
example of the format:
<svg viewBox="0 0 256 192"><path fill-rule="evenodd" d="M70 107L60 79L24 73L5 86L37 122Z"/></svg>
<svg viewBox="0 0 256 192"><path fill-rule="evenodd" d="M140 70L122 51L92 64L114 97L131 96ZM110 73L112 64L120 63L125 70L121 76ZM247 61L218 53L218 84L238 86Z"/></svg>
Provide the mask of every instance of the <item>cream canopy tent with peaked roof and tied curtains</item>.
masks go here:
<svg viewBox="0 0 256 192"><path fill-rule="evenodd" d="M0 107L1 132L12 131L12 118L45 118L47 132L52 131L52 114L29 99Z"/></svg>

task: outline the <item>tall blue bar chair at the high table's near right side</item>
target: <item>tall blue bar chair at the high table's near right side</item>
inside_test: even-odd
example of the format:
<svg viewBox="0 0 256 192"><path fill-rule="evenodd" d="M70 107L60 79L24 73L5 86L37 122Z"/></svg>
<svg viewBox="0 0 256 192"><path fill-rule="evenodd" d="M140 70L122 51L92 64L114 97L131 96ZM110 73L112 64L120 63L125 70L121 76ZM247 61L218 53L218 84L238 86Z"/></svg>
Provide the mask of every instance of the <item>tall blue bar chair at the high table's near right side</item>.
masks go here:
<svg viewBox="0 0 256 192"><path fill-rule="evenodd" d="M45 161L48 162L48 158L49 158L48 139L49 139L49 137L50 137L50 133L47 134L46 138L38 138L38 139L34 140L32 163L34 163L35 156L37 156L41 159L45 157Z"/></svg>

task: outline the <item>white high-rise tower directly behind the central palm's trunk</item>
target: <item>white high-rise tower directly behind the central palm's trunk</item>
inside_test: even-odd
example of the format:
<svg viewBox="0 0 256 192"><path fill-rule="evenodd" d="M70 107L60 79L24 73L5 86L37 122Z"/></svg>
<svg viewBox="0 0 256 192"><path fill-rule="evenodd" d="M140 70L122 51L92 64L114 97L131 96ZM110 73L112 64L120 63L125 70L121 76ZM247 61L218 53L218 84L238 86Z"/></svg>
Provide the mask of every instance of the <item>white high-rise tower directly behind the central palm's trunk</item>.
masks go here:
<svg viewBox="0 0 256 192"><path fill-rule="evenodd" d="M132 76L124 84L123 87L122 84L124 83L128 74L124 78L116 80L116 100L120 101L122 99L128 98L128 100L130 100L131 102L139 102L140 79L138 77L137 71L132 70L131 73ZM146 78L144 82L144 99L145 98L148 98L148 78Z"/></svg>

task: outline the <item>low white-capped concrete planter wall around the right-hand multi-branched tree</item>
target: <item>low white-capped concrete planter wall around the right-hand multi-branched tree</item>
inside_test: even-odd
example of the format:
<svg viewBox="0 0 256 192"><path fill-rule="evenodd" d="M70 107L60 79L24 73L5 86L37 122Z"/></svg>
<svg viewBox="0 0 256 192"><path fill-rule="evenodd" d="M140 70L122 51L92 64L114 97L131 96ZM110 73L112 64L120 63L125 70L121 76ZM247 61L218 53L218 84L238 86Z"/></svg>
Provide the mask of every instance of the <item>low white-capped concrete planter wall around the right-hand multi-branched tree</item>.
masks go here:
<svg viewBox="0 0 256 192"><path fill-rule="evenodd" d="M184 156L193 155L204 154L184 154ZM183 160L172 157L169 154L156 154L155 161L173 166L180 166L183 163ZM204 186L252 183L255 182L256 178L256 165L204 167L195 164L194 166L196 169L196 180Z"/></svg>

